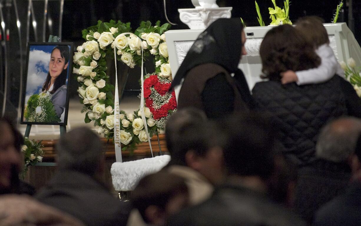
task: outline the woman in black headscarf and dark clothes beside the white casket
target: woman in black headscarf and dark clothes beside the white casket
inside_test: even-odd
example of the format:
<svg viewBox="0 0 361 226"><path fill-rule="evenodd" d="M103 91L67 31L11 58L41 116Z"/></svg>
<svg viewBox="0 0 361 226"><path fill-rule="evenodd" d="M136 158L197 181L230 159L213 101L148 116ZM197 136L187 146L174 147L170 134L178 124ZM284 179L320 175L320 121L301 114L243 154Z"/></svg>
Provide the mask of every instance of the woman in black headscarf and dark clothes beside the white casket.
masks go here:
<svg viewBox="0 0 361 226"><path fill-rule="evenodd" d="M171 88L180 85L178 108L204 110L208 118L248 111L252 104L247 81L238 68L245 34L239 18L213 22L188 51Z"/></svg>

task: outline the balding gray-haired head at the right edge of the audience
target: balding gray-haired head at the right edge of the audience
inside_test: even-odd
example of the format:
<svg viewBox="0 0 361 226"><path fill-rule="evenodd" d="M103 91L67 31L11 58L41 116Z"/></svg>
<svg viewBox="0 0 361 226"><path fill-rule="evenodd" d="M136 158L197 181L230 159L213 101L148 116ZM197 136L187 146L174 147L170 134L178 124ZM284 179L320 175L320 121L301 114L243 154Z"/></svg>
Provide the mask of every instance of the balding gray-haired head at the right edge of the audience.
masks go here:
<svg viewBox="0 0 361 226"><path fill-rule="evenodd" d="M361 120L342 117L328 123L319 134L316 156L331 162L344 162L355 152L361 132Z"/></svg>

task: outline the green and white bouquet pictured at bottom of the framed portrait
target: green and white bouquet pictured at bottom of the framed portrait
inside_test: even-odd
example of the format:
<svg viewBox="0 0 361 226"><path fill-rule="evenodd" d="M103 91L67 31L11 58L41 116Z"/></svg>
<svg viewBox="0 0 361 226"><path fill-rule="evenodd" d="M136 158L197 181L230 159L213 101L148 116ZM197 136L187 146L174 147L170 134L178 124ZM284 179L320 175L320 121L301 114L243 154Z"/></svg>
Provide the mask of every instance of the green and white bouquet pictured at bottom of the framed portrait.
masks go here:
<svg viewBox="0 0 361 226"><path fill-rule="evenodd" d="M60 122L51 101L51 94L45 92L30 96L24 117L28 122Z"/></svg>

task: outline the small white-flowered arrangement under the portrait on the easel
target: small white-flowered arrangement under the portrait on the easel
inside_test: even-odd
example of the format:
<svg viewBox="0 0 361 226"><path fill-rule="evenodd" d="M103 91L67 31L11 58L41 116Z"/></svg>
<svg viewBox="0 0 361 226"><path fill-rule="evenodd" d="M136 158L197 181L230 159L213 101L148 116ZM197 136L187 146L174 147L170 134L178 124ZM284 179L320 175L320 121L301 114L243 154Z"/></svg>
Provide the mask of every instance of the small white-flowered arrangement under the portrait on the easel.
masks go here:
<svg viewBox="0 0 361 226"><path fill-rule="evenodd" d="M42 141L36 142L29 140L28 137L24 138L24 145L21 147L21 152L24 155L24 169L21 176L24 178L29 166L34 166L36 163L43 161L44 152L42 150Z"/></svg>

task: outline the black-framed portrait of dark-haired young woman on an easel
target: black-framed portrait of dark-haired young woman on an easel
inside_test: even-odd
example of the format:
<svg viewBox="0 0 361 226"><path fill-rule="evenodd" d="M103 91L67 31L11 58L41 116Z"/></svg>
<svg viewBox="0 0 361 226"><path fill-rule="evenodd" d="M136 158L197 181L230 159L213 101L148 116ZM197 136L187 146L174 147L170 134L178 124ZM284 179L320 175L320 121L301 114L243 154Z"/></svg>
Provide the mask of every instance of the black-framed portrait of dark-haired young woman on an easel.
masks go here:
<svg viewBox="0 0 361 226"><path fill-rule="evenodd" d="M28 43L21 124L67 124L72 62L71 42Z"/></svg>

